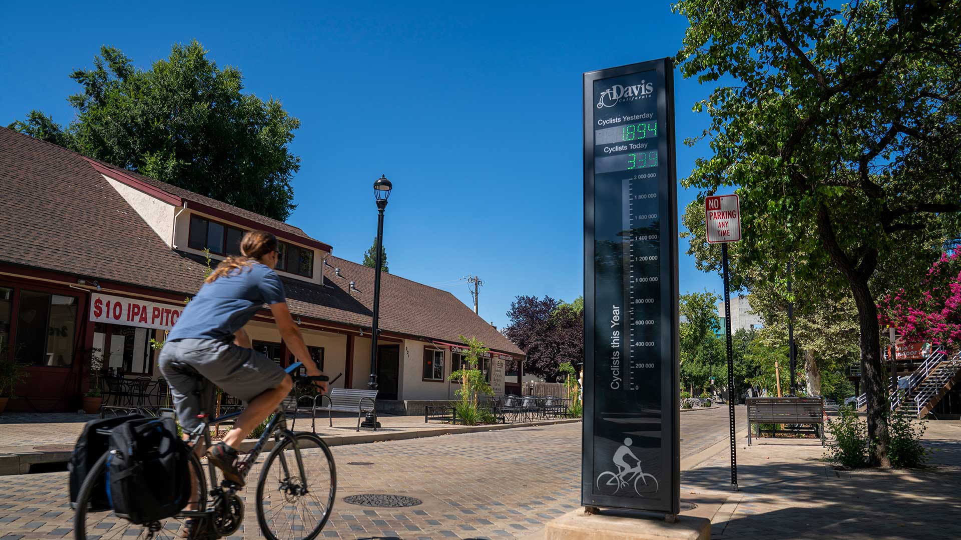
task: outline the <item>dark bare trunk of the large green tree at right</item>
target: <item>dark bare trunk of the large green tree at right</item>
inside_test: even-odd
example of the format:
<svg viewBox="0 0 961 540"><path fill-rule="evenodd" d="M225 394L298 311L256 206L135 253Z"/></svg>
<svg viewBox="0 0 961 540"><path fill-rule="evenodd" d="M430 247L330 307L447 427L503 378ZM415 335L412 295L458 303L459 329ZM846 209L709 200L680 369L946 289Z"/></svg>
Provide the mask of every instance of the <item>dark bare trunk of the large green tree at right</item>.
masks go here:
<svg viewBox="0 0 961 540"><path fill-rule="evenodd" d="M877 330L877 306L868 281L849 280L854 304L857 305L861 334L861 380L868 397L868 440L872 465L891 467L888 457L888 378L881 366L881 340Z"/></svg>

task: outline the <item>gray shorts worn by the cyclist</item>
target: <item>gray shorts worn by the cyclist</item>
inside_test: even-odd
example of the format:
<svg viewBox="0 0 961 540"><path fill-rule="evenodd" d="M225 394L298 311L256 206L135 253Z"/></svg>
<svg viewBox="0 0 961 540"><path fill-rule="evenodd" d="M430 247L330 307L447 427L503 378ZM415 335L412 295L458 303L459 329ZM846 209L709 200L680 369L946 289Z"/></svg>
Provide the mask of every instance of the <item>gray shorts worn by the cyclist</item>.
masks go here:
<svg viewBox="0 0 961 540"><path fill-rule="evenodd" d="M171 362L182 362L213 384L182 373ZM212 415L214 384L243 402L250 402L263 392L277 387L287 376L283 368L253 349L216 339L178 339L167 341L160 350L160 373L170 386L177 417L185 431L200 425L197 415ZM206 410L205 410L206 407Z"/></svg>

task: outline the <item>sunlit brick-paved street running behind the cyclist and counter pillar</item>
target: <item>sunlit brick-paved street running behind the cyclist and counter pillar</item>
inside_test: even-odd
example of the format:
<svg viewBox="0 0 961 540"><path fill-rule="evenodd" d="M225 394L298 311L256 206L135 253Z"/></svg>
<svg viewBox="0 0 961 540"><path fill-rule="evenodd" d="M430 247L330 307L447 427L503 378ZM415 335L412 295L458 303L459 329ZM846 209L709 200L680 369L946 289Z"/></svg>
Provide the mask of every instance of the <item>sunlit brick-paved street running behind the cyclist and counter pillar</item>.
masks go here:
<svg viewBox="0 0 961 540"><path fill-rule="evenodd" d="M681 414L682 456L726 435L727 409ZM523 538L579 506L580 424L340 446L332 452L337 502L326 537ZM308 462L318 458L316 451L307 454ZM404 494L424 503L384 509L342 501L361 493ZM260 537L251 500L237 538ZM71 518L65 473L0 477L0 540L67 535Z"/></svg>

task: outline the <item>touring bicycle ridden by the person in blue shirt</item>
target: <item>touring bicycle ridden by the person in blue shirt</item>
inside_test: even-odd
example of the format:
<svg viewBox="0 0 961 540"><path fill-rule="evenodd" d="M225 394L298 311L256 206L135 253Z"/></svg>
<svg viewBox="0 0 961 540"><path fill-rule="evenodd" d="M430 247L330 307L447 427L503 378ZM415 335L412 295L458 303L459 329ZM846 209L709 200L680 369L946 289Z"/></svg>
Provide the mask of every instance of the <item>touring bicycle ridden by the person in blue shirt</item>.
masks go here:
<svg viewBox="0 0 961 540"><path fill-rule="evenodd" d="M296 362L285 371L293 376L301 365L300 362ZM196 372L194 375L201 377ZM294 377L294 380L296 384L312 384L315 380L328 380L328 378L327 376L305 376ZM165 409L164 412L173 413L171 409ZM143 525L133 524L114 514L111 509L100 512L89 510L90 501L105 486L105 469L109 454L107 453L97 460L80 488L74 514L74 538L76 540L113 538L152 540L184 537L181 529L187 527L184 523L187 519L203 520L195 528L198 532L194 538L215 539L233 534L243 523L244 500L237 495L240 488L228 480L218 482L218 469L209 463L209 460L206 465L208 474L205 475L204 465L193 449L201 439L206 445L205 448L209 448L210 428L233 420L239 415L240 412L233 412L208 421L206 413L202 412L201 425L188 434L186 444L190 449L190 471L197 480L197 491L192 494L191 503L196 499L197 509L182 510L174 517ZM109 431L101 432L109 434ZM267 427L260 435L254 449L246 454L245 459L238 465L240 474L245 479L254 471L259 454L271 436L274 437L274 447L260 468L255 498L260 530L269 540L312 540L327 524L333 510L337 485L333 454L323 439L317 435L287 430L282 405L268 420ZM313 448L319 449L321 458L311 462L308 468L305 466L302 450ZM241 454L241 457L244 455ZM326 472L324 471L325 463ZM308 472L311 473L310 478L308 478ZM315 479L315 476L319 478ZM209 484L207 477L209 477ZM209 491L208 485L213 486ZM273 504L277 504L277 507L274 508ZM308 520L315 521L311 522L312 525L308 525ZM282 535L284 532L290 534Z"/></svg>

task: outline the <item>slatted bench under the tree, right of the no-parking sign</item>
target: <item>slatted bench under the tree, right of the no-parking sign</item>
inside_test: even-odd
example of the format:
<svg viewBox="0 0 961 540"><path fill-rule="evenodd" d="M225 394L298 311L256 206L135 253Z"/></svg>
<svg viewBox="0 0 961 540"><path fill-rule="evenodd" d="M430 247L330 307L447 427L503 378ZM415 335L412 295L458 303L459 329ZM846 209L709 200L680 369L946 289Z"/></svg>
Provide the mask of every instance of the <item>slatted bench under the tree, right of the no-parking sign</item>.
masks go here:
<svg viewBox="0 0 961 540"><path fill-rule="evenodd" d="M758 437L761 436L761 424L773 424L772 436L777 433L820 434L821 446L825 446L824 398L748 398L748 446L751 446L752 424L757 425ZM778 425L789 428L778 430ZM811 428L808 430L803 426Z"/></svg>

